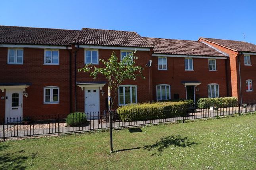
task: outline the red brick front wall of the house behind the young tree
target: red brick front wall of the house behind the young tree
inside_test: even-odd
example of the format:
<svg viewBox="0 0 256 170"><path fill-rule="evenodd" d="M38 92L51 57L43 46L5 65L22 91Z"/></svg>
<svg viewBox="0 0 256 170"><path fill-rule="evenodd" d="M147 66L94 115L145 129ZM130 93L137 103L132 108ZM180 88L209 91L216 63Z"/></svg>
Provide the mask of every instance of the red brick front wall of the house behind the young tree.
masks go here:
<svg viewBox="0 0 256 170"><path fill-rule="evenodd" d="M83 68L84 66L84 49L80 48L79 51L77 52L77 69L78 68ZM99 58L100 59L108 59L112 52L115 51L117 57L120 59L121 52L120 50L108 50L108 49L99 49ZM138 57L137 60L135 60L136 65L141 65L144 70L143 70L143 76L146 77L146 79L142 79L141 77L138 77L136 81L133 80L126 80L123 85L137 85L137 100L138 102L146 102L150 101L149 96L151 96L152 100L152 77L150 78L150 88L149 88L149 79L148 79L148 68L145 67L145 64L148 63L148 60L151 59L152 52L151 51L137 51L135 53L135 56ZM98 67L104 66L101 62L99 65L96 65ZM84 73L84 72L77 72L77 77L76 81L105 81L106 85L102 87L102 91L104 91L104 96L102 96L101 91L100 91L100 113L102 114L104 110L107 110L106 108L106 98L108 97L108 81L105 79L102 75L98 75L95 80L91 76L89 76L90 73ZM150 70L150 75L152 75L152 70ZM77 111L84 111L84 91L81 90L80 87L76 87L77 90ZM150 91L150 95L149 95ZM113 94L114 92L112 92ZM117 97L115 98L115 107L117 107L118 104L118 94Z"/></svg>

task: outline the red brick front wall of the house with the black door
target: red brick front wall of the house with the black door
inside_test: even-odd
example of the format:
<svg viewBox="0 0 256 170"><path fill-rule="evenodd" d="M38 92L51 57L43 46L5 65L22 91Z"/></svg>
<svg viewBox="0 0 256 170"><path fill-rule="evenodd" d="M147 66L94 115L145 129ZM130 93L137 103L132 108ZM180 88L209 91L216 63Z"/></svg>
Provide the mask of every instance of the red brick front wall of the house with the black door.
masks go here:
<svg viewBox="0 0 256 170"><path fill-rule="evenodd" d="M217 71L209 71L208 59L193 58L194 71L185 71L185 58L167 57L168 70L158 70L158 57L152 59L153 71L153 94L156 100L156 85L171 85L171 99L174 94L179 98L186 99L186 88L182 81L199 81L199 91L195 91L196 98L208 97L208 84L219 84L219 96L226 96L225 59L216 59Z"/></svg>

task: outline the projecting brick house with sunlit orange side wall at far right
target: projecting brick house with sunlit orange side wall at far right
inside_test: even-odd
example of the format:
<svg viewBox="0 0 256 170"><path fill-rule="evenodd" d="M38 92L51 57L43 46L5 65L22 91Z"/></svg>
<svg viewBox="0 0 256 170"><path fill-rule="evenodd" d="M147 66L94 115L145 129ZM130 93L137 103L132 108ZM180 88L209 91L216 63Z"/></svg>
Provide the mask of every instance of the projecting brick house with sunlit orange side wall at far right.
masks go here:
<svg viewBox="0 0 256 170"><path fill-rule="evenodd" d="M253 88L256 87L256 45L215 38L199 38L198 41L229 56L228 96L237 97L240 101L255 100L256 91Z"/></svg>

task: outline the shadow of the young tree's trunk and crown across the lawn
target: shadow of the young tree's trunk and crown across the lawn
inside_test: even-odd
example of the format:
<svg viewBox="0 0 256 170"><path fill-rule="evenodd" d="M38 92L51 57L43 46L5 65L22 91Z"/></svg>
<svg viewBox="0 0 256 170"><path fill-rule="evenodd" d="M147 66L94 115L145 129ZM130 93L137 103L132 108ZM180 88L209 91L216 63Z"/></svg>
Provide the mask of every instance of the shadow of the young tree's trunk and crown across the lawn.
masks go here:
<svg viewBox="0 0 256 170"><path fill-rule="evenodd" d="M129 149L121 149L114 152L120 152L120 151L129 151L129 150L135 150L135 149L141 149L143 148L146 151L151 151L153 149L157 149L159 154L161 155L163 150L170 147L170 146L176 146L176 147L190 147L191 145L197 145L198 143L191 142L188 137L181 137L180 135L177 136L163 136L160 138L160 141L156 141L155 144L152 145L144 145L143 147L135 147L135 148L129 148ZM156 155L156 154L152 154Z"/></svg>

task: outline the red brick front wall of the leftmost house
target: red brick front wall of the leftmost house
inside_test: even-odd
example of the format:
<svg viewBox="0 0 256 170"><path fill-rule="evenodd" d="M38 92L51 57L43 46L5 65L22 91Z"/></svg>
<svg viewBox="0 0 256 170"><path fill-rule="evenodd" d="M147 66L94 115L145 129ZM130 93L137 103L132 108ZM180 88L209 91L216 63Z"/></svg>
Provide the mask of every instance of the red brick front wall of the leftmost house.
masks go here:
<svg viewBox="0 0 256 170"><path fill-rule="evenodd" d="M23 49L23 65L8 65L8 49L0 48L0 82L32 83L26 89L28 97L23 96L23 117L35 115L68 114L70 110L69 53L59 50L58 66L43 65L44 49ZM43 104L43 87L60 87L59 104ZM0 92L0 96L5 93ZM0 100L0 117L5 115L5 100Z"/></svg>

